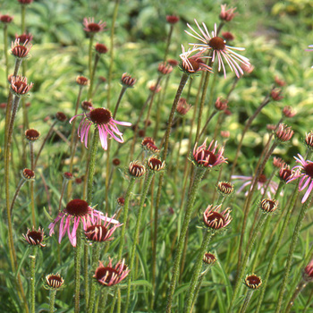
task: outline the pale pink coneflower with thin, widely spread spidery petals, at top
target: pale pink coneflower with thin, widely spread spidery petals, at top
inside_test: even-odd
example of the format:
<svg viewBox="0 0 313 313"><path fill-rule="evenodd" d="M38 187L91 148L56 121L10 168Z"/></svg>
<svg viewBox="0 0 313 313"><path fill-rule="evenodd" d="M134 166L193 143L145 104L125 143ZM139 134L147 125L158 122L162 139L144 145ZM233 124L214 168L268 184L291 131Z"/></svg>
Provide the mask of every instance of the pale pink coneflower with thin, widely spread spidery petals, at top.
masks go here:
<svg viewBox="0 0 313 313"><path fill-rule="evenodd" d="M212 63L217 58L218 72L220 72L221 69L223 68L224 77L226 77L224 61L226 61L232 72L234 72L238 78L240 77L240 75L243 75L240 63L244 63L248 66L250 65L250 61L247 57L237 54L234 50L243 51L244 48L227 46L223 38L217 37L216 24L214 25L214 31L212 31L212 36L210 36L207 30L207 25L205 23L202 23L202 26L204 28L204 30L202 30L201 27L199 26L198 21L196 20L194 21L196 22L196 25L198 26L201 35L196 30L193 30L190 24L187 24L187 26L190 30L192 30L194 34L190 33L187 30L185 30L185 32L191 37L201 41L201 44L190 44L190 45L193 46L194 48L197 48L198 50L212 49L213 51Z"/></svg>

